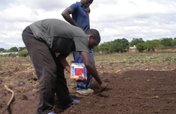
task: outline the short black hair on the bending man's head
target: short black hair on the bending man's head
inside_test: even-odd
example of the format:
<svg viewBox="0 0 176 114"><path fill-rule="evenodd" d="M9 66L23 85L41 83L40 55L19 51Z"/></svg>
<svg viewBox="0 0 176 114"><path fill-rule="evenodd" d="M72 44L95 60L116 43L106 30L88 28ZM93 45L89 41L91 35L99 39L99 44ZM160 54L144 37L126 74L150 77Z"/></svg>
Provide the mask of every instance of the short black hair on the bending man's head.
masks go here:
<svg viewBox="0 0 176 114"><path fill-rule="evenodd" d="M96 30L96 29L89 29L86 31L86 34L91 34L93 39L96 40L97 42L101 41L100 34L99 34L98 30Z"/></svg>

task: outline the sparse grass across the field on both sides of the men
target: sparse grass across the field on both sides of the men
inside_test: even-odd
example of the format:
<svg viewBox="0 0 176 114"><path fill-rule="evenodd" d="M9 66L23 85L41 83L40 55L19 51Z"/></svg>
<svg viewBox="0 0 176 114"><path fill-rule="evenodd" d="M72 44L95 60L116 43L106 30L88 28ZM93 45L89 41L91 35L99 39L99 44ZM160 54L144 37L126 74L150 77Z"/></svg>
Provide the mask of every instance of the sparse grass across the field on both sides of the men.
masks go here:
<svg viewBox="0 0 176 114"><path fill-rule="evenodd" d="M175 53L116 53L116 54L97 54L95 53L95 65L99 73L115 73L118 70L155 70L168 71L176 69ZM73 56L67 57L70 64ZM108 66L108 67L106 67ZM0 80L3 83L12 83L10 80L16 80L21 73L24 77L33 76L34 67L29 57L0 57ZM8 72L12 72L11 76ZM6 75L3 75L6 73ZM65 72L65 77L70 78ZM24 80L27 81L27 80ZM75 86L75 83L70 83Z"/></svg>

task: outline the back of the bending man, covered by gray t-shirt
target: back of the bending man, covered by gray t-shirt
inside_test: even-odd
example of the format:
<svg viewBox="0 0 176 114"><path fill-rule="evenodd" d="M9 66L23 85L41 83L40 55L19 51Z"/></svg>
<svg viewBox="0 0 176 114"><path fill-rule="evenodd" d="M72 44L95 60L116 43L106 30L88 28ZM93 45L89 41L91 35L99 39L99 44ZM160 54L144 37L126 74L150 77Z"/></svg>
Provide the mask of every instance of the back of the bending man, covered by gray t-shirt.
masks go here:
<svg viewBox="0 0 176 114"><path fill-rule="evenodd" d="M34 32L36 38L46 35L47 38L58 36L71 39L76 35L85 35L80 28L67 24L59 19L40 20L31 24L30 28Z"/></svg>

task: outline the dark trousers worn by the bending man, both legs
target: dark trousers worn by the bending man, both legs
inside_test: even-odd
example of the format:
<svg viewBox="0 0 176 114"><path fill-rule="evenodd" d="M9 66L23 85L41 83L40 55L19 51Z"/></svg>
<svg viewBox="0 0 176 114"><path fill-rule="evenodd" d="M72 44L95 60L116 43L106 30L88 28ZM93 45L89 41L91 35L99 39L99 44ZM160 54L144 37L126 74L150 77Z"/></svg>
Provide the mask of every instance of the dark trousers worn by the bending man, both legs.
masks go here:
<svg viewBox="0 0 176 114"><path fill-rule="evenodd" d="M47 114L52 110L55 93L61 106L71 103L64 68L55 53L52 53L43 41L34 38L30 27L23 31L22 38L39 80L40 102L37 114Z"/></svg>

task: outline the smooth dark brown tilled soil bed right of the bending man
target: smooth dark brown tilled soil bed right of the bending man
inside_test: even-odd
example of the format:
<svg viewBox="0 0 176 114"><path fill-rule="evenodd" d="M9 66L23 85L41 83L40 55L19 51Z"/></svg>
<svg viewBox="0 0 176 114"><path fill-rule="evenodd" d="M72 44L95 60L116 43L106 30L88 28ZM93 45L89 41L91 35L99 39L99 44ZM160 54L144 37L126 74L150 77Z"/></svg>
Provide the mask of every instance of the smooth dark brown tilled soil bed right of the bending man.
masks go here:
<svg viewBox="0 0 176 114"><path fill-rule="evenodd" d="M82 98L62 114L176 113L176 71L127 71L102 77L108 83L106 91Z"/></svg>

